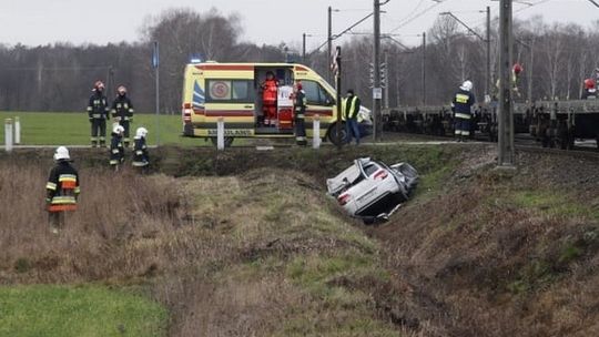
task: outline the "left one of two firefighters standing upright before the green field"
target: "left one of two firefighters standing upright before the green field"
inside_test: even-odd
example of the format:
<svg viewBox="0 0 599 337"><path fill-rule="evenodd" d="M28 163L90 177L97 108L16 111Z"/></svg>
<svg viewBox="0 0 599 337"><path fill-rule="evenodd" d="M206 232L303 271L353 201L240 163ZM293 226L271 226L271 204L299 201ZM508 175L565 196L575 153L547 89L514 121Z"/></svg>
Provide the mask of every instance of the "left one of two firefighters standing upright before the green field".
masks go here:
<svg viewBox="0 0 599 337"><path fill-rule="evenodd" d="M104 95L104 83L95 81L93 94L88 104L88 116L91 123L91 145L97 147L106 144L106 120L110 120L108 100Z"/></svg>

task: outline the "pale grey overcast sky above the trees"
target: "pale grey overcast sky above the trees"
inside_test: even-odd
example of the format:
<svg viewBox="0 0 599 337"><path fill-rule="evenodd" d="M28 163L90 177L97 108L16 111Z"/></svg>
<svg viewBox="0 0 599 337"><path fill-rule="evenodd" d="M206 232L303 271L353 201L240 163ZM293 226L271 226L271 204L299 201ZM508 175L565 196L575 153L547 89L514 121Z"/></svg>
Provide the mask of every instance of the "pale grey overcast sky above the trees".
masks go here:
<svg viewBox="0 0 599 337"><path fill-rule="evenodd" d="M382 0L383 1L383 0ZM440 3L437 3L439 2ZM577 22L588 25L599 19L599 8L588 0L521 0L515 3L518 19L541 14L547 22ZM382 31L403 34L406 44L418 43L415 34L426 31L439 12L451 11L467 24L483 27L487 6L498 13L498 1L490 0L390 0L383 7ZM530 6L534 4L534 6ZM144 19L161 11L183 7L200 12L214 7L222 13L238 13L242 39L258 44L282 41L298 47L302 33L308 38L308 50L326 37L327 7L333 13L333 32L337 33L368 14L373 0L1 0L0 43L18 42L39 45L53 42L75 44L135 41ZM368 20L355 28L356 33L372 31Z"/></svg>

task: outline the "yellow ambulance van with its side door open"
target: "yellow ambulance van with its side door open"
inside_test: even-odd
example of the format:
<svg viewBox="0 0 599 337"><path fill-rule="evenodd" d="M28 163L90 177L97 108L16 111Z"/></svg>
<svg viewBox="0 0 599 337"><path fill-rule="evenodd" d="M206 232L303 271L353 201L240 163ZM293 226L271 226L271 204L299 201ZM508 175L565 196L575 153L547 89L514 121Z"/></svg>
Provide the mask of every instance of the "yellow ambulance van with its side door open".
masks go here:
<svg viewBox="0 0 599 337"><path fill-rule="evenodd" d="M266 120L264 83L276 79L276 118ZM314 134L313 122L319 116L319 136L336 142L336 92L306 65L296 63L191 63L183 81L183 135L216 142L216 124L224 121L225 145L235 137L293 137L293 83L301 81L307 99L306 135ZM268 103L271 104L271 103ZM372 126L370 112L362 109L361 131ZM343 122L342 122L343 123ZM342 139L345 126L342 125Z"/></svg>

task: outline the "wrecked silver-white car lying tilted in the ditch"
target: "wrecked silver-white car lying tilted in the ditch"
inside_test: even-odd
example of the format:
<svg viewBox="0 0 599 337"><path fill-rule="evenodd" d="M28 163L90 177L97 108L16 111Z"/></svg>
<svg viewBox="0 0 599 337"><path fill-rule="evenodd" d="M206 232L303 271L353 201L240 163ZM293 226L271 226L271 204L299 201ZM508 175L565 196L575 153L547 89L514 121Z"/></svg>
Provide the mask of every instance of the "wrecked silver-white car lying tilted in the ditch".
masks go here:
<svg viewBox="0 0 599 337"><path fill-rule="evenodd" d="M387 166L369 157L357 159L341 174L326 181L328 194L349 215L365 223L386 221L406 202L418 183L407 163Z"/></svg>

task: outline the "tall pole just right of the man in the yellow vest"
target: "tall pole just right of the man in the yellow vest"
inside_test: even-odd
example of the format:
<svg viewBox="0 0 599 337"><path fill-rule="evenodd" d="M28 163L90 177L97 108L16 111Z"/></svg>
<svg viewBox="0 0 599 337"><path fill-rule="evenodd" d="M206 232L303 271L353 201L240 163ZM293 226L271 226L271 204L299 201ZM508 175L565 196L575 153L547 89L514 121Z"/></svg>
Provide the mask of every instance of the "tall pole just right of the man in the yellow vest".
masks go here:
<svg viewBox="0 0 599 337"><path fill-rule="evenodd" d="M380 136L380 1L374 0L374 59L373 59L373 137L377 142Z"/></svg>

